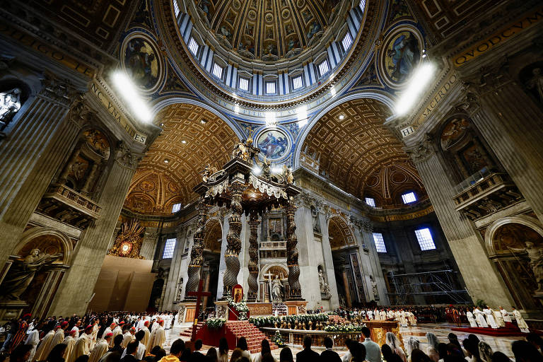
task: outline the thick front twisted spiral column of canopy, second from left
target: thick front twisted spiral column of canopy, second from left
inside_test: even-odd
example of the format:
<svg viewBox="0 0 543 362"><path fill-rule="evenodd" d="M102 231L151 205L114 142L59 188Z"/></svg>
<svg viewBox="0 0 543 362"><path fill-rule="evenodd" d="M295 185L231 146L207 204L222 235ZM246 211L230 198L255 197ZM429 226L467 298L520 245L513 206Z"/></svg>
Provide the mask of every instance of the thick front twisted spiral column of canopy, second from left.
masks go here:
<svg viewBox="0 0 543 362"><path fill-rule="evenodd" d="M245 185L239 181L232 182L230 185L230 194L232 202L230 209L232 214L228 217L228 225L230 230L226 234L226 253L224 261L226 263L226 271L223 277L223 296L230 295L232 287L238 284L238 273L240 272L240 250L241 250L241 214L243 208L241 206L241 195Z"/></svg>

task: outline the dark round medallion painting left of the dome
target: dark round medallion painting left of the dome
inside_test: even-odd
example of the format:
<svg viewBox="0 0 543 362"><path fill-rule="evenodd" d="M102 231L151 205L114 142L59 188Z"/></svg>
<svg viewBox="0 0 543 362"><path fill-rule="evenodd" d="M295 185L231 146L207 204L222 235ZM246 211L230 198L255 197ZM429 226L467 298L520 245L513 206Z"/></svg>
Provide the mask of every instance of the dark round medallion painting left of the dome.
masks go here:
<svg viewBox="0 0 543 362"><path fill-rule="evenodd" d="M124 70L144 91L153 91L160 79L156 47L143 37L132 37L124 46Z"/></svg>

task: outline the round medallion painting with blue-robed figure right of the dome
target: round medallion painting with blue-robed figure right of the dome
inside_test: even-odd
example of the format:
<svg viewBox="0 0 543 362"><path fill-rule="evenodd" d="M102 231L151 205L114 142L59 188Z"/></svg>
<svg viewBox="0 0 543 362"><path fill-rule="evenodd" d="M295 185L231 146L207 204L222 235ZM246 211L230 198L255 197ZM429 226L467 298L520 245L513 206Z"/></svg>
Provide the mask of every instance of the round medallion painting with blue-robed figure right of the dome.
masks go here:
<svg viewBox="0 0 543 362"><path fill-rule="evenodd" d="M420 44L419 37L409 30L396 33L387 42L383 73L390 86L401 85L413 74L421 61Z"/></svg>

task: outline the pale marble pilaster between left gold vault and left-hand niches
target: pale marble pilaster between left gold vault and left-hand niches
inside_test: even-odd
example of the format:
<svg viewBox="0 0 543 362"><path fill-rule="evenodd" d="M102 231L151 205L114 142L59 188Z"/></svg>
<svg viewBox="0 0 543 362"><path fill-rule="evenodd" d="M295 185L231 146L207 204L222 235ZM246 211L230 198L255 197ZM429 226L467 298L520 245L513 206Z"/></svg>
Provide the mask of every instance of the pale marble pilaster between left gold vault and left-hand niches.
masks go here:
<svg viewBox="0 0 543 362"><path fill-rule="evenodd" d="M136 156L124 143L119 143L115 151L115 161L97 200L102 206L100 218L85 230L78 241L71 268L64 276L49 315L85 313L136 165Z"/></svg>

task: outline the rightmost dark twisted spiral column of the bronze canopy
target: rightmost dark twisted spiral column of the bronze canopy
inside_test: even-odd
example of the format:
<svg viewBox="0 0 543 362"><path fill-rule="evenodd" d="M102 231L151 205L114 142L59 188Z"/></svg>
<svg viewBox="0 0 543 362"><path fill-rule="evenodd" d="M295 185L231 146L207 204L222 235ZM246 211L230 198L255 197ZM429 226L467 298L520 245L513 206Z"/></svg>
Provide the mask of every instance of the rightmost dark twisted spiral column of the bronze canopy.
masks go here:
<svg viewBox="0 0 543 362"><path fill-rule="evenodd" d="M294 213L296 206L292 199L286 206L286 265L288 266L288 285L291 287L289 299L302 298L302 286L300 286L300 266L298 265L298 239L296 238L296 221Z"/></svg>

